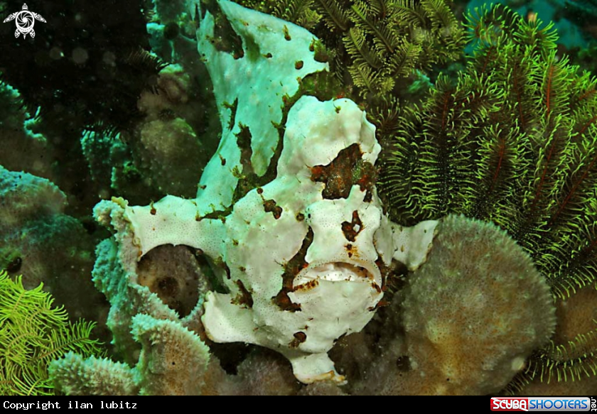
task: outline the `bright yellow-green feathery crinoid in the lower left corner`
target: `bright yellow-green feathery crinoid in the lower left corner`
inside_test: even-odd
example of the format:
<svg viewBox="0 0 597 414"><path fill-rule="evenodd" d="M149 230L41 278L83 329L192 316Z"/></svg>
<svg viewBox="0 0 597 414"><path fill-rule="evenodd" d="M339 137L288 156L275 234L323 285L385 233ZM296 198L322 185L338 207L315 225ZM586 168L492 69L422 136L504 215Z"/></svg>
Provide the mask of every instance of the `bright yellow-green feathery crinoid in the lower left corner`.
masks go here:
<svg viewBox="0 0 597 414"><path fill-rule="evenodd" d="M68 322L63 307L43 285L26 290L21 276L11 280L0 271L0 393L53 395L48 364L67 352L82 357L102 356L97 340L90 339L93 322Z"/></svg>

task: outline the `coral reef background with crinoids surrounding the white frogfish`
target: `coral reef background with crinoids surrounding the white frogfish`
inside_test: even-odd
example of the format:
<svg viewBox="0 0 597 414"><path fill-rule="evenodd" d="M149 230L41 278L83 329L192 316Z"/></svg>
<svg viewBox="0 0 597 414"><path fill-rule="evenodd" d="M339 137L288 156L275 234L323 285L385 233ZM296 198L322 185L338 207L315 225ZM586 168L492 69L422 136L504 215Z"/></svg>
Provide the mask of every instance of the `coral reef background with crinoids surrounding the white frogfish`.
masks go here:
<svg viewBox="0 0 597 414"><path fill-rule="evenodd" d="M353 185L379 192L399 227L438 220L429 260L376 265L384 299L375 316L329 352L348 383L306 385L270 349L213 342L200 318L208 292L230 292L227 264L164 244L144 254L132 283L119 246L126 229L110 226L123 199L150 215L168 195L194 199L235 126L241 168L216 160L239 183L232 203L200 218L230 225L234 202L272 180L274 168L259 175L259 154L243 143L251 133L238 125L238 99L217 102L198 53L200 21L215 16L218 53L257 61L254 50L215 0L28 3L47 21L35 38L0 24L0 271L16 281L10 289L22 283L64 307L41 320L41 336L67 326L68 312L83 343L44 359L53 380L29 392L597 394L597 2L235 2L320 39L313 62L291 62L297 74L329 67L278 97L281 121L268 127L282 136L301 95L356 102L375 125L380 160L373 168L343 153L311 179L330 199L348 198ZM22 6L0 0L0 20ZM281 149L262 153L275 165ZM110 200L117 207L94 217ZM275 217L271 201L263 198ZM0 315L10 289L0 290ZM252 305L250 289L235 289L237 304ZM6 323L0 317L0 332Z"/></svg>

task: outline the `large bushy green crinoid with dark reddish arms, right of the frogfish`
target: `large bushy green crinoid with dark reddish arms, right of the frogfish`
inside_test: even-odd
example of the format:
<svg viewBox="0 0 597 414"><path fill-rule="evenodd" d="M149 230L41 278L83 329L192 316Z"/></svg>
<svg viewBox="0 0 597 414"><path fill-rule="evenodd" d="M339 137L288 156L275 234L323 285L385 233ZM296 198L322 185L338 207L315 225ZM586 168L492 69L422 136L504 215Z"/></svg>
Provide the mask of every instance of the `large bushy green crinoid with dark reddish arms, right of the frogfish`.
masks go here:
<svg viewBox="0 0 597 414"><path fill-rule="evenodd" d="M597 80L556 54L552 24L493 6L467 26L466 71L401 109L380 193L402 225L447 214L496 224L547 280L556 334L507 390L595 376ZM574 325L569 303L588 320Z"/></svg>

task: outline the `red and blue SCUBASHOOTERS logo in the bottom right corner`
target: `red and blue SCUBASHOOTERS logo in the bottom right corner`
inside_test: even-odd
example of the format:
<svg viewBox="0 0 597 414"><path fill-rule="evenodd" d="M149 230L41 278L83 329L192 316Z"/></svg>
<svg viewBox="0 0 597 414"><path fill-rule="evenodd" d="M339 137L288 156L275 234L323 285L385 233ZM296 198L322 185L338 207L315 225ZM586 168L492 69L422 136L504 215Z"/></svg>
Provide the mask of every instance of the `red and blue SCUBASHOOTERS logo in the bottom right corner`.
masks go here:
<svg viewBox="0 0 597 414"><path fill-rule="evenodd" d="M492 397L492 411L588 411L588 397Z"/></svg>

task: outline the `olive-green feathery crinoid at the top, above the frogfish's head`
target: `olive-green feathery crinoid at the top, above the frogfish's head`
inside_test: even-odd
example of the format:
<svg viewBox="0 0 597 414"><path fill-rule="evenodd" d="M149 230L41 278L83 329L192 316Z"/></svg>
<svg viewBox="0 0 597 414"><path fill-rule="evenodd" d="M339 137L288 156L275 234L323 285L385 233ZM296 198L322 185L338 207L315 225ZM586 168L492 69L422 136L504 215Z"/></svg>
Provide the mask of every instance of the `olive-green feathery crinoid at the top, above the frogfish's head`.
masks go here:
<svg viewBox="0 0 597 414"><path fill-rule="evenodd" d="M321 38L338 79L367 100L399 94L413 70L461 54L463 31L450 0L236 0Z"/></svg>

